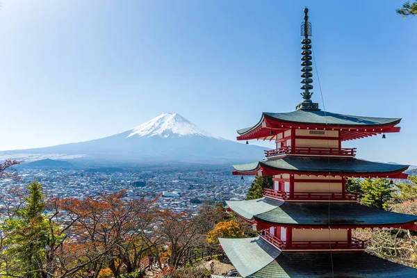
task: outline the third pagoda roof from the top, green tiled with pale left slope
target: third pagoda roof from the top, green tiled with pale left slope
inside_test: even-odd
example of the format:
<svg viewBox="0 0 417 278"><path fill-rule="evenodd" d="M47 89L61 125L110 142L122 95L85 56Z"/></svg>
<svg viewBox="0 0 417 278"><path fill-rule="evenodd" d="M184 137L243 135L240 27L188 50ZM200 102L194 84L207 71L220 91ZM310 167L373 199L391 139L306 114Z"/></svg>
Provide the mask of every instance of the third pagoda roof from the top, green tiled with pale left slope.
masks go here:
<svg viewBox="0 0 417 278"><path fill-rule="evenodd" d="M261 198L228 201L227 205L251 222L288 227L398 227L417 222L417 215L357 203L288 203Z"/></svg>

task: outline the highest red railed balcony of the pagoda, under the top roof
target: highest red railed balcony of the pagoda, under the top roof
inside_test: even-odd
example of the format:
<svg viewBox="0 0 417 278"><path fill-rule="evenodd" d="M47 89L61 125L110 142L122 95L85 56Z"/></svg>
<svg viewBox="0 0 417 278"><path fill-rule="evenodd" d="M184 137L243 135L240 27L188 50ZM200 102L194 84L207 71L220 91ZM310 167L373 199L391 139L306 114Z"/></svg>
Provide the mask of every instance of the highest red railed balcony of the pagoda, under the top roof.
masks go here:
<svg viewBox="0 0 417 278"><path fill-rule="evenodd" d="M280 147L265 150L267 158L275 156L343 156L354 157L356 148L323 148L323 147Z"/></svg>

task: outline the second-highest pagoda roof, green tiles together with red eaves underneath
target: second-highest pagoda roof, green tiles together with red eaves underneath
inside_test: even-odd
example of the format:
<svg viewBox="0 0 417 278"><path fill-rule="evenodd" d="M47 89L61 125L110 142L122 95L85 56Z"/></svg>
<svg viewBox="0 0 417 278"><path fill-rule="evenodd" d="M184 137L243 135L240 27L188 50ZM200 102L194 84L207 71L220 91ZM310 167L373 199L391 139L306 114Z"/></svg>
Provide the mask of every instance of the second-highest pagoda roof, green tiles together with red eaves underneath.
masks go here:
<svg viewBox="0 0 417 278"><path fill-rule="evenodd" d="M281 173L349 174L360 177L392 177L402 175L409 165L377 163L357 158L313 158L284 156L254 163L233 165L234 174L257 174L265 176Z"/></svg>

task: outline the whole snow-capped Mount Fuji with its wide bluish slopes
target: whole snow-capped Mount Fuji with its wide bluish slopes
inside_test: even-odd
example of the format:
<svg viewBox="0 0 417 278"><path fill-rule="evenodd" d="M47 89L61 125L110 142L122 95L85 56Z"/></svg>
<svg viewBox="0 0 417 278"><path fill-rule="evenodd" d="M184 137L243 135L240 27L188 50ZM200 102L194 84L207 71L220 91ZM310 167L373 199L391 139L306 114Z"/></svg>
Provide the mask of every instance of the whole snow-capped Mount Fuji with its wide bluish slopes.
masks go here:
<svg viewBox="0 0 417 278"><path fill-rule="evenodd" d="M85 142L0 152L1 158L52 158L81 163L234 163L263 157L263 147L214 136L177 113L158 117L122 133Z"/></svg>

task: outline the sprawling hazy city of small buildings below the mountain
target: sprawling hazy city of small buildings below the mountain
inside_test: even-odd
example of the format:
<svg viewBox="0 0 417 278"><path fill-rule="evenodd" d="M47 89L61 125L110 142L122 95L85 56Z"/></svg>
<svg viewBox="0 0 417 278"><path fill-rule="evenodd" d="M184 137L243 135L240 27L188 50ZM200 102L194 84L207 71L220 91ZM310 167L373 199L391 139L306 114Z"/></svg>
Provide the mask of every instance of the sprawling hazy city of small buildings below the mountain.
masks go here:
<svg viewBox="0 0 417 278"><path fill-rule="evenodd" d="M176 212L197 211L199 204L204 202L245 199L253 177L242 180L241 177L232 176L230 167L218 166L211 170L204 170L203 167L201 170L195 167L190 167L190 170L172 167L165 170L18 167L20 179L2 179L0 188L2 195L8 195L10 190L24 189L36 179L42 184L46 199L84 199L126 190L126 199L154 199L161 195L156 205Z"/></svg>

